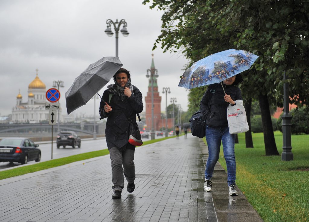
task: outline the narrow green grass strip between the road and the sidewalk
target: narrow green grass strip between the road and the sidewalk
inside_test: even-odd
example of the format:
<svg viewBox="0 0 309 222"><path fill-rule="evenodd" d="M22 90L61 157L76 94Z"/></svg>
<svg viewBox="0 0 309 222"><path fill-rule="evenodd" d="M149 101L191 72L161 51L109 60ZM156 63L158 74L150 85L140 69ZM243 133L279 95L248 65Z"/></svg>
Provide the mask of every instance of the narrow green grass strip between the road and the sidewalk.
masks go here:
<svg viewBox="0 0 309 222"><path fill-rule="evenodd" d="M181 134L182 135L182 134ZM155 143L161 140L165 139L170 139L174 138L176 136L169 136L169 137L163 137L160 139L153 139L153 140L148 140L143 143L142 146L150 144L150 143ZM109 154L107 149L104 150L99 150L99 151L92 151L92 152L87 152L87 153L81 153L78 155L73 155L73 156L68 156L68 157L63 157L59 159L52 159L49 161L45 162L40 162L32 165L27 165L25 164L23 167L15 168L15 169L8 169L5 171L0 171L0 180L14 177L14 176L20 176L26 173L32 173L40 170L45 170L53 167L58 167L61 165L65 165L68 163L80 161L80 160L85 160L85 159L90 159L98 156L103 156Z"/></svg>

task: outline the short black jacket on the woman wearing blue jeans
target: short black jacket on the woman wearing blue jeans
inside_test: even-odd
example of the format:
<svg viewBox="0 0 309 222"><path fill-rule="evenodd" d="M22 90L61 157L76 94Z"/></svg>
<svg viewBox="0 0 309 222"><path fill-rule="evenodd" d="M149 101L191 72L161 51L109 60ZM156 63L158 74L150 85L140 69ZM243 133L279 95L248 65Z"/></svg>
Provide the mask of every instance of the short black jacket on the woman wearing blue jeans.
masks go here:
<svg viewBox="0 0 309 222"><path fill-rule="evenodd" d="M234 101L237 99L243 100L241 91L238 87L233 85L223 84L224 90L227 95L231 96ZM210 109L208 109L208 102L211 90L215 90L212 95ZM224 91L221 83L211 84L207 87L205 94L200 102L200 109L204 116L206 116L206 124L210 127L228 127L226 118L226 108L230 103L224 100Z"/></svg>

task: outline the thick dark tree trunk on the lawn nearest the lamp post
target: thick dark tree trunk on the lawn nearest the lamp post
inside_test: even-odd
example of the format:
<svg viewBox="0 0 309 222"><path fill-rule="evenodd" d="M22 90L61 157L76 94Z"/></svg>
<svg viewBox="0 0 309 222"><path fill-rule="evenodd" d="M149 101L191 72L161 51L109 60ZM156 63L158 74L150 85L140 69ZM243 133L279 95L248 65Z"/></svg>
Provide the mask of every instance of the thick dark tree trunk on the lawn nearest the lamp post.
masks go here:
<svg viewBox="0 0 309 222"><path fill-rule="evenodd" d="M260 110L262 115L262 125L264 134L264 144L266 156L279 155L275 136L273 134L273 124L270 117L269 102L267 95L259 94Z"/></svg>

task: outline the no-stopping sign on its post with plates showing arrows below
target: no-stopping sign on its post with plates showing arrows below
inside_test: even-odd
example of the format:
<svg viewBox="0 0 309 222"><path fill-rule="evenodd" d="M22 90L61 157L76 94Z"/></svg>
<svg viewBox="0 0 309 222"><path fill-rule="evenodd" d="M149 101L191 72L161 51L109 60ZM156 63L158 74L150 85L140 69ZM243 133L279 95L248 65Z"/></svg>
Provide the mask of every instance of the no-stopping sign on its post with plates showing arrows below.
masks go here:
<svg viewBox="0 0 309 222"><path fill-rule="evenodd" d="M54 132L54 125L56 125L56 117L57 112L56 110L60 109L60 103L56 103L60 99L60 92L55 89L51 88L46 92L46 99L51 103L45 103L45 109L49 110L49 125L52 126L52 159L53 159L53 132Z"/></svg>

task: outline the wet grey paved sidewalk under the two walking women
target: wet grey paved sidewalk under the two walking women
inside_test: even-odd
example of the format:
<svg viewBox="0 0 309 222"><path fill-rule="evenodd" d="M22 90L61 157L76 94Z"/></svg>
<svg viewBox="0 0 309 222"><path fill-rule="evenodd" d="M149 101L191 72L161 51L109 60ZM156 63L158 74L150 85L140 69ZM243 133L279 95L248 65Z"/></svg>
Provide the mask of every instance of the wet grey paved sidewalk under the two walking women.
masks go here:
<svg viewBox="0 0 309 222"><path fill-rule="evenodd" d="M121 199L109 155L0 180L0 221L262 221L240 191L229 199L220 165L203 191L206 160L192 135L138 147L135 190Z"/></svg>

